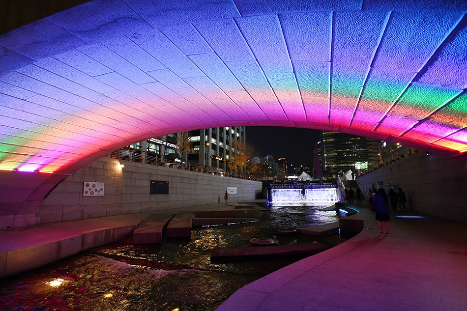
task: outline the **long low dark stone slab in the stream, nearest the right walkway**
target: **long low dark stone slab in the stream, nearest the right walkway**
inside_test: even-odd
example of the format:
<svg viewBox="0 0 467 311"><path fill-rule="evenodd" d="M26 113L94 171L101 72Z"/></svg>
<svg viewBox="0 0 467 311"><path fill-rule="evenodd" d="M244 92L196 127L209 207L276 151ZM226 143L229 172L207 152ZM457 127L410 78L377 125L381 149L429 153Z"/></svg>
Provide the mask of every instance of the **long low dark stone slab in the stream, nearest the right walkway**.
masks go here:
<svg viewBox="0 0 467 311"><path fill-rule="evenodd" d="M214 248L211 252L211 260L225 261L273 256L318 254L327 249L327 246L322 245L318 242L301 243L293 245Z"/></svg>

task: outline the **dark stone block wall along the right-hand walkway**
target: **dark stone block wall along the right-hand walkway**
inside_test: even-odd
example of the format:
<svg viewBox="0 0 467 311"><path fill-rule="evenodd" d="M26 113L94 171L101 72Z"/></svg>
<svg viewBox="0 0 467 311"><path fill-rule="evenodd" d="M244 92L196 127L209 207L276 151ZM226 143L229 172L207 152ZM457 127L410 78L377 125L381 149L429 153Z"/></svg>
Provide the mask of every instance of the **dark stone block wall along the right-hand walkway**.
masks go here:
<svg viewBox="0 0 467 311"><path fill-rule="evenodd" d="M409 210L467 224L467 164L419 152L357 178L366 194L379 183L406 193ZM366 196L365 196L366 197Z"/></svg>

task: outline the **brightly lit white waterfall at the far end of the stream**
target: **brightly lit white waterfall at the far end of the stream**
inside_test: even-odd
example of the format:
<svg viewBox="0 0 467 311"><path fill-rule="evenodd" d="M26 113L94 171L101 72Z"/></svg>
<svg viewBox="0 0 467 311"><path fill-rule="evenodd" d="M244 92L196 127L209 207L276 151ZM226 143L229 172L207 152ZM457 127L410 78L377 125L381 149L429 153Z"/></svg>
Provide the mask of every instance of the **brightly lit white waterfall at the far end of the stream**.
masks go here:
<svg viewBox="0 0 467 311"><path fill-rule="evenodd" d="M334 203L339 201L336 185L269 185L267 190L267 204L270 203Z"/></svg>

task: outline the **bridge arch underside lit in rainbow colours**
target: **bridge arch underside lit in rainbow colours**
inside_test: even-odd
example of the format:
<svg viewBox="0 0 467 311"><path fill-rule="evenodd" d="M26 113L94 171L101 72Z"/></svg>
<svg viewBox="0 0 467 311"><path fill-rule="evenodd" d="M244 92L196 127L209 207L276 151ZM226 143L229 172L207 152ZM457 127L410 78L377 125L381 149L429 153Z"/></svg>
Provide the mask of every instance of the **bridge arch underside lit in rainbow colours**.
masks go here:
<svg viewBox="0 0 467 311"><path fill-rule="evenodd" d="M466 1L150 2L88 1L0 36L2 215L33 214L64 175L185 130L467 150Z"/></svg>

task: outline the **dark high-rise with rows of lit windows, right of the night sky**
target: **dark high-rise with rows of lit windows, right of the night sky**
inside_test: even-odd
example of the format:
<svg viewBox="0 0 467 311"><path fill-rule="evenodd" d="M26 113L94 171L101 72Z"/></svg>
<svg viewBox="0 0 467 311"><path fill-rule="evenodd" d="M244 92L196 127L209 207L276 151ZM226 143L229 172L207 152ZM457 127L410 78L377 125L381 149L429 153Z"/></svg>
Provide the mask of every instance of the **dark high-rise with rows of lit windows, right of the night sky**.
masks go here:
<svg viewBox="0 0 467 311"><path fill-rule="evenodd" d="M333 175L339 171L365 170L368 165L379 162L378 145L378 140L324 131L321 142L323 167Z"/></svg>

